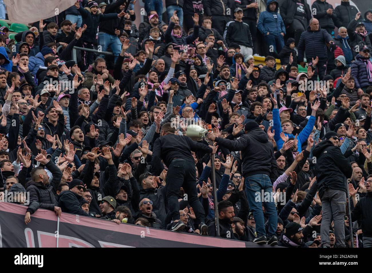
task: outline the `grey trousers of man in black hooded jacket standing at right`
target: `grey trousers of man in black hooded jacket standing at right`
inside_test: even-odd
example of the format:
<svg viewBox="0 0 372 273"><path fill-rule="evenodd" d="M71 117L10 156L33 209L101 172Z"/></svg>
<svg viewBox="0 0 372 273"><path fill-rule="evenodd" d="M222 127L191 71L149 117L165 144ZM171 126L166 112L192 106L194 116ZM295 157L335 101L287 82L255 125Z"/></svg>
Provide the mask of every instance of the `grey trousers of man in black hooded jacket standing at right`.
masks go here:
<svg viewBox="0 0 372 273"><path fill-rule="evenodd" d="M323 210L322 222L320 226L321 246L330 246L329 230L333 220L336 246L346 247L344 229L344 217L346 214L346 192L338 189L328 188L323 193L321 201Z"/></svg>

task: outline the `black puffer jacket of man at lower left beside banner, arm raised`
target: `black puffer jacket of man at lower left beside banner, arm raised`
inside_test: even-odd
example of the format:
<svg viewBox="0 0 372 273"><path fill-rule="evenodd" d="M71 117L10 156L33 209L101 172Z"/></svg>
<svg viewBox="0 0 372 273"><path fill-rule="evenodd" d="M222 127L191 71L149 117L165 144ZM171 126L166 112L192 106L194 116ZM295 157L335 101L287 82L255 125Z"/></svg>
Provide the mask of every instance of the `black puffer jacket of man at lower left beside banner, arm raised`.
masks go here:
<svg viewBox="0 0 372 273"><path fill-rule="evenodd" d="M40 208L53 211L54 206L57 206L54 194L57 192L58 185L61 182L62 172L51 160L45 167L53 174L52 182L44 185L42 182L29 181L26 183L26 189L30 194L30 203L33 201L39 202Z"/></svg>

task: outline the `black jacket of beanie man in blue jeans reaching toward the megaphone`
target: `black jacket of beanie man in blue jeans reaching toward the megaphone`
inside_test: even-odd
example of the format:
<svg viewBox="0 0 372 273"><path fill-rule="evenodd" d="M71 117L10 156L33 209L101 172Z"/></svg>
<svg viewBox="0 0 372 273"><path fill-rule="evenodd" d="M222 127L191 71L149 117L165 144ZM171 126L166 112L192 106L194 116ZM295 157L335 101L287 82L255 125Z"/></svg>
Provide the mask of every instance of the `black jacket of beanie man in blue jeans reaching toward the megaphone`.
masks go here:
<svg viewBox="0 0 372 273"><path fill-rule="evenodd" d="M230 151L241 151L243 158L241 170L243 176L266 174L271 181L277 178L277 168L273 145L269 142L267 134L256 128L243 134L236 141L216 137L218 145L226 147Z"/></svg>

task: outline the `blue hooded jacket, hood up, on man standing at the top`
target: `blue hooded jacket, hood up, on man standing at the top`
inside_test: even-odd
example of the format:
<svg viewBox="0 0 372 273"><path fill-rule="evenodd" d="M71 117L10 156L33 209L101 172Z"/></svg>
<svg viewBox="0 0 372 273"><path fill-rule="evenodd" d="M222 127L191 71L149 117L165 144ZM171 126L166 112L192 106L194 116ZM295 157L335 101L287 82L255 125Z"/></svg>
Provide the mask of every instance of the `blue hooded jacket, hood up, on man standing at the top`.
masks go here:
<svg viewBox="0 0 372 273"><path fill-rule="evenodd" d="M272 12L269 9L269 5L275 2L276 9ZM266 10L260 13L260 17L257 23L257 28L260 32L266 36L267 32L270 34L279 36L281 32L285 34L285 26L282 19L282 16L278 13L279 10L279 3L275 0L267 0L266 2Z"/></svg>

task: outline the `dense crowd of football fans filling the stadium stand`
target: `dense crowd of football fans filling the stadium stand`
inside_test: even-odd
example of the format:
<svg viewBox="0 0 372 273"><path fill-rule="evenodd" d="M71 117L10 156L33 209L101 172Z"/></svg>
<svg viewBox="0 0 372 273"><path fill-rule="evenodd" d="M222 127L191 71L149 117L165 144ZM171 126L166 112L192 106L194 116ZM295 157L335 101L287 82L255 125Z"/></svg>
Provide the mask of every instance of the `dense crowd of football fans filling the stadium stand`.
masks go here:
<svg viewBox="0 0 372 273"><path fill-rule="evenodd" d="M0 28L1 201L216 236L217 200L222 238L372 247L372 9L143 2Z"/></svg>

